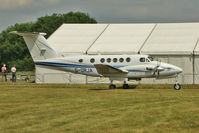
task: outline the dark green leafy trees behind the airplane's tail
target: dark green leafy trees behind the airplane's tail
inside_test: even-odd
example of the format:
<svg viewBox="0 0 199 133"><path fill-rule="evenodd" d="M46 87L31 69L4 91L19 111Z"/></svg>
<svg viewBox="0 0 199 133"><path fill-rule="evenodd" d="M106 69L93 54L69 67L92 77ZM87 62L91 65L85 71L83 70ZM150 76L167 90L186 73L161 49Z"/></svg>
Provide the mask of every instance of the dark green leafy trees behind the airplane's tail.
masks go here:
<svg viewBox="0 0 199 133"><path fill-rule="evenodd" d="M48 38L63 23L97 23L94 18L81 12L52 14L35 22L15 24L0 33L0 64L8 68L16 65L18 71L33 71L34 62L22 37L9 34L10 31L45 32ZM9 70L9 69L8 69Z"/></svg>

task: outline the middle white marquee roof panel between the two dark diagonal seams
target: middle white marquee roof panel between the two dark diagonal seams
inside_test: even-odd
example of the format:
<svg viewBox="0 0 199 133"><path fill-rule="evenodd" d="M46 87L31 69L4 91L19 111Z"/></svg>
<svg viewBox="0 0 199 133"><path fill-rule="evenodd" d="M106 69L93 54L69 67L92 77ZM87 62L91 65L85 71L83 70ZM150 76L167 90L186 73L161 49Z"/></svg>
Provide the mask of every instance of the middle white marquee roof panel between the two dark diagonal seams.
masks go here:
<svg viewBox="0 0 199 133"><path fill-rule="evenodd" d="M136 54L155 24L110 24L88 54Z"/></svg>

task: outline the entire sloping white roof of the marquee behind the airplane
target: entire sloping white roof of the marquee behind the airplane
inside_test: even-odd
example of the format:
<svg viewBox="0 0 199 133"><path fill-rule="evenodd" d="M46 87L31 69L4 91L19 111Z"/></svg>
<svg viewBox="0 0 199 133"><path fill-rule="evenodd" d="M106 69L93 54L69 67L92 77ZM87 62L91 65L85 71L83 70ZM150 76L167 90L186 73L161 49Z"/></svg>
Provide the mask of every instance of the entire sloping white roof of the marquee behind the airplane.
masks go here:
<svg viewBox="0 0 199 133"><path fill-rule="evenodd" d="M49 38L64 54L199 54L199 23L63 24Z"/></svg>

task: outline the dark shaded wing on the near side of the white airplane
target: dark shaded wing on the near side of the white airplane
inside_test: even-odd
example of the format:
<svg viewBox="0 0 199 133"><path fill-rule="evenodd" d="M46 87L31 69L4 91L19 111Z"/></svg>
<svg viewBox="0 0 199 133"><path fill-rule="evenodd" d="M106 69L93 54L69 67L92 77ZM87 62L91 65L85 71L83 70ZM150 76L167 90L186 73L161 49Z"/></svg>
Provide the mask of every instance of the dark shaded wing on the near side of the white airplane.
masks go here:
<svg viewBox="0 0 199 133"><path fill-rule="evenodd" d="M127 74L128 71L115 68L109 65L105 64L95 64L95 68L97 69L97 72L103 76L109 76L109 75L118 75L118 74Z"/></svg>

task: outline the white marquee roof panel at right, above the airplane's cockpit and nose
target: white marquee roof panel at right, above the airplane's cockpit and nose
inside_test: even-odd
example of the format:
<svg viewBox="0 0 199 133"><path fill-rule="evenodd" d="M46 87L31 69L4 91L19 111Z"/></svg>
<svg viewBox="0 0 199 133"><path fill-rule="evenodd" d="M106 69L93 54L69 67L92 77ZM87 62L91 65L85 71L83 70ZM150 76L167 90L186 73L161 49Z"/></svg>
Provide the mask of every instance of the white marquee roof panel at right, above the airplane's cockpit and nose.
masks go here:
<svg viewBox="0 0 199 133"><path fill-rule="evenodd" d="M192 54L198 38L199 23L157 24L141 53Z"/></svg>

